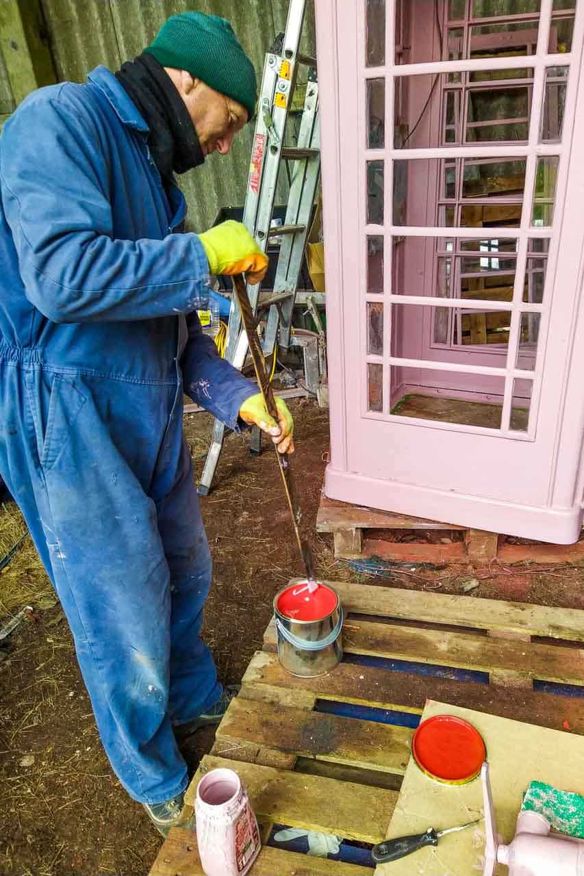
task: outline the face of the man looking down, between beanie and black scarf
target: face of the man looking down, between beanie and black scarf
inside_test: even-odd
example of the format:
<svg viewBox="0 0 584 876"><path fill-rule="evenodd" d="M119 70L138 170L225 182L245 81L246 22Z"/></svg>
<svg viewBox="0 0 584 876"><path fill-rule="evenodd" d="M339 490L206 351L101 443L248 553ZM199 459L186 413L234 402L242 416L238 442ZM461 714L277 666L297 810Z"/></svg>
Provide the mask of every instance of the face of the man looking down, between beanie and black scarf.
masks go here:
<svg viewBox="0 0 584 876"><path fill-rule="evenodd" d="M185 71L182 71L181 86L182 100L195 125L203 153L227 155L233 138L246 124L246 107L201 80L193 79Z"/></svg>

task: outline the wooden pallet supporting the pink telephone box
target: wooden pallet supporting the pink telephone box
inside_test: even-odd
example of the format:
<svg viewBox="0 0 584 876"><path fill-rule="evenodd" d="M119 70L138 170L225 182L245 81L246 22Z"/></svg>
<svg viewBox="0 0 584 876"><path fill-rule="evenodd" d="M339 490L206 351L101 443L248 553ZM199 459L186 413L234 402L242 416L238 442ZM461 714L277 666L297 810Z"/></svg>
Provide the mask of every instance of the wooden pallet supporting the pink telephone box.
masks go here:
<svg viewBox="0 0 584 876"><path fill-rule="evenodd" d="M448 540L445 544L384 540L383 532L392 529L411 533L443 531L445 536L452 532L462 532L464 540ZM378 556L389 562L482 564L495 559L508 563L570 562L584 559L584 539L575 545L552 545L544 542L531 545L510 544L504 535L498 533L350 505L328 498L324 492L318 507L317 532L332 534L335 556L340 560Z"/></svg>

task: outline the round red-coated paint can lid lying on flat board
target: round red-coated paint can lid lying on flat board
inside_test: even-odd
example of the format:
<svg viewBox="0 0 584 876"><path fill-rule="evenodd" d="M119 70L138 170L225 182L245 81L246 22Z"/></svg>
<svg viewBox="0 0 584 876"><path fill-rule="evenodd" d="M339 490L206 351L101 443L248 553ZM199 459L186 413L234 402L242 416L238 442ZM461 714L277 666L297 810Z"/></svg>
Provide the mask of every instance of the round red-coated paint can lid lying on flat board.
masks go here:
<svg viewBox="0 0 584 876"><path fill-rule="evenodd" d="M453 715L435 715L420 724L411 751L426 775L452 785L473 781L487 759L479 731Z"/></svg>

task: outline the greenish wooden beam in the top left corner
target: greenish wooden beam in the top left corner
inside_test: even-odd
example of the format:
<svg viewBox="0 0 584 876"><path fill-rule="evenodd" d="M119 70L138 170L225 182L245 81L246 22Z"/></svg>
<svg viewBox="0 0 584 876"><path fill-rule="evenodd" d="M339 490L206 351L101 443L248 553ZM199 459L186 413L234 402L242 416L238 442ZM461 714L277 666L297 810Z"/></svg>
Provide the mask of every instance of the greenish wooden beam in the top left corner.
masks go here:
<svg viewBox="0 0 584 876"><path fill-rule="evenodd" d="M39 0L0 0L0 48L17 105L35 88L57 81Z"/></svg>

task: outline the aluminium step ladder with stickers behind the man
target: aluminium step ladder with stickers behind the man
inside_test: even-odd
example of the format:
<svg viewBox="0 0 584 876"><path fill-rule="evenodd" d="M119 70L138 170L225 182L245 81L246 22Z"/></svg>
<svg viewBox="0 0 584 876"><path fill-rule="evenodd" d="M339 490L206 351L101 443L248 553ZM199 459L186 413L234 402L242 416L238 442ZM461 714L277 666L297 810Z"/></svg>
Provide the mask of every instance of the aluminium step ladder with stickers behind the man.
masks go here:
<svg viewBox="0 0 584 876"><path fill-rule="evenodd" d="M274 346L291 343L296 288L310 231L310 219L320 178L320 121L318 114L317 60L299 52L306 0L290 0L286 32L280 34L266 55L261 81L260 105L253 137L252 161L246 189L243 222L265 252L270 240L281 238L274 291L267 301L269 313L263 342L266 357ZM287 122L293 105L300 67L309 68L302 120L296 145L287 145ZM274 199L281 167L288 172L289 194L283 225L272 224ZM247 294L257 314L260 287L247 285ZM262 305L263 307L264 305ZM234 295L227 329L225 358L239 369L248 350L241 314ZM215 420L210 449L203 467L199 495L206 496L223 448L225 426ZM256 440L257 445L257 440Z"/></svg>

